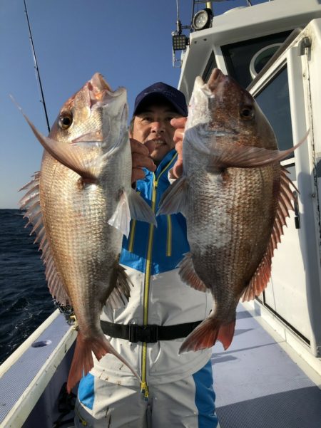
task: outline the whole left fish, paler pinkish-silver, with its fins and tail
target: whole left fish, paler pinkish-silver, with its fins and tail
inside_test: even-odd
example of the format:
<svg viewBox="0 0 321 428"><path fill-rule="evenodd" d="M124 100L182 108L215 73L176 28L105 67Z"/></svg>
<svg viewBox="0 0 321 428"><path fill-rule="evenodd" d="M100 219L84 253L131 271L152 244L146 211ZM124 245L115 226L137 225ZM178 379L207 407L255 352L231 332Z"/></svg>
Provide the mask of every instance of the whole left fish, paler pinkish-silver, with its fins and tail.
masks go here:
<svg viewBox="0 0 321 428"><path fill-rule="evenodd" d="M126 90L113 92L96 73L63 105L49 137L26 118L45 151L21 207L43 251L49 290L73 307L78 323L68 391L93 367L92 353L128 365L100 325L104 304L117 308L130 296L118 259L131 216L155 221L131 188L127 110Z"/></svg>

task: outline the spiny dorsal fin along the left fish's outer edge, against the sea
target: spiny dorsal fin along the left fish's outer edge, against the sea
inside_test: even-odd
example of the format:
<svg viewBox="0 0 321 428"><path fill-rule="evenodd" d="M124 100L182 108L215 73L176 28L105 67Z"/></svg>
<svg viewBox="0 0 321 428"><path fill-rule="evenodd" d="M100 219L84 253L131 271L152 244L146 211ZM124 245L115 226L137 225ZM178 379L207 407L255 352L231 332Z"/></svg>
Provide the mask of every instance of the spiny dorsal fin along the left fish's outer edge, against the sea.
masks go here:
<svg viewBox="0 0 321 428"><path fill-rule="evenodd" d="M20 209L26 209L24 217L29 219L26 226L32 224L33 229L30 234L36 234L36 242L39 242L39 250L42 251L41 259L45 265L46 281L48 282L49 291L51 296L56 298L56 301L63 306L70 305L70 299L63 287L61 278L56 270L54 258L51 251L49 239L46 235L46 229L41 213L40 194L39 194L39 179L40 172L34 174L34 179L27 183L20 190L26 190L26 194L20 200ZM25 227L26 227L25 226Z"/></svg>

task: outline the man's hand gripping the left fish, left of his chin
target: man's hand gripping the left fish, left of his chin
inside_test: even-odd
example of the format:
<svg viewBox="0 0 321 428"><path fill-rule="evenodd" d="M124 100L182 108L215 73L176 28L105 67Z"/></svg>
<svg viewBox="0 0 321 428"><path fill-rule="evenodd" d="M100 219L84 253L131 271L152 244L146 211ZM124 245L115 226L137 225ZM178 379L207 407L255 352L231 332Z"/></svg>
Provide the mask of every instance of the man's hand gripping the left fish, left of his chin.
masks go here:
<svg viewBox="0 0 321 428"><path fill-rule="evenodd" d="M150 171L156 171L156 165L149 155L155 150L155 142L147 141L145 144L130 138L131 142L131 159L132 159L132 172L131 183L133 184L138 179L145 177L143 167Z"/></svg>

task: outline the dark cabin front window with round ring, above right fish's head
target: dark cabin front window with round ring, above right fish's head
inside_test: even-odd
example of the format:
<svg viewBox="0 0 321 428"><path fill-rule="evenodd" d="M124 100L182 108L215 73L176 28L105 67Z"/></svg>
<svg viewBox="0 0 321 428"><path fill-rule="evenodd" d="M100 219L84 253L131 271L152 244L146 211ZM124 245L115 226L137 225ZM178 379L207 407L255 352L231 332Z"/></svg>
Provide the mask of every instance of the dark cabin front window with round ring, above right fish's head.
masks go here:
<svg viewBox="0 0 321 428"><path fill-rule="evenodd" d="M252 38L250 40L221 46L228 74L235 78L243 88L247 88L252 80L250 62L253 56L255 56L258 51L265 48L265 46L283 43L291 32L292 31L284 31L283 33L271 34L270 36ZM267 63L269 59L268 56L265 56L265 62L261 64L261 68L265 66L265 63Z"/></svg>

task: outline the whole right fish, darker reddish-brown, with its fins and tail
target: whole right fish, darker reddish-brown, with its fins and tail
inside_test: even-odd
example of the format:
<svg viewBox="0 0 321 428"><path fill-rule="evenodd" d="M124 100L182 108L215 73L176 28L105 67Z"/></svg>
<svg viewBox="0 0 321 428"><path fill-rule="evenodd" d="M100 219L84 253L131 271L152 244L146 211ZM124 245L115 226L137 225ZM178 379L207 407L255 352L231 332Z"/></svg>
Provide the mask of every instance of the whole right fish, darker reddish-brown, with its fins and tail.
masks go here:
<svg viewBox="0 0 321 428"><path fill-rule="evenodd" d="M306 136L305 136L306 137ZM300 144L305 140L302 139ZM190 253L180 277L210 291L213 311L183 342L180 353L225 349L240 297L258 296L295 199L269 122L253 97L215 69L196 78L183 139L183 176L161 199L158 214L185 215Z"/></svg>

